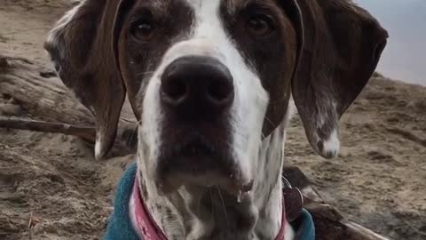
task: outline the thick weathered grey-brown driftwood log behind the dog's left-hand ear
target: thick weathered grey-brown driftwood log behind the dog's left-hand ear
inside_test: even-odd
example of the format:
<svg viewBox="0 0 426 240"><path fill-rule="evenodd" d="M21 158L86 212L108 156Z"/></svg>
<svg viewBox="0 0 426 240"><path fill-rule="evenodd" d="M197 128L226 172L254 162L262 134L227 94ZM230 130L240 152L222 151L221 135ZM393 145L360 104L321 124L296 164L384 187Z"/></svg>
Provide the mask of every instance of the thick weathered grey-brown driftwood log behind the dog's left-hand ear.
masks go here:
<svg viewBox="0 0 426 240"><path fill-rule="evenodd" d="M0 59L6 60L0 68L0 98L13 100L28 116L39 120L95 125L91 112L75 99L52 69L20 58L0 56ZM136 118L126 101L120 125L131 129L135 123Z"/></svg>

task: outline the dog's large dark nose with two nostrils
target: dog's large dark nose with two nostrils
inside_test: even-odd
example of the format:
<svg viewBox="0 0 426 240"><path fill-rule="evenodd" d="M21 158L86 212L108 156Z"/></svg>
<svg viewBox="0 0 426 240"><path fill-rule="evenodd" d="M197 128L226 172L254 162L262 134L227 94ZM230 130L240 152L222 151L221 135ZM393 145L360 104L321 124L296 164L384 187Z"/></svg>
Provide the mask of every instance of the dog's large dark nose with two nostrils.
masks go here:
<svg viewBox="0 0 426 240"><path fill-rule="evenodd" d="M161 100L172 108L222 111L232 105L233 99L233 76L214 58L182 57L162 74Z"/></svg>

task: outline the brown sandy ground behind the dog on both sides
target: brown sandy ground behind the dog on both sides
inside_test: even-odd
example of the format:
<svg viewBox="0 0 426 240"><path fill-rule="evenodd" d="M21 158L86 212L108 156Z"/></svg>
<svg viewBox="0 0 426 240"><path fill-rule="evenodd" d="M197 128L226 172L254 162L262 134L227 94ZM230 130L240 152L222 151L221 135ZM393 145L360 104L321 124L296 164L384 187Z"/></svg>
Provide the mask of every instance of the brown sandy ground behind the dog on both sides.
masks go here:
<svg viewBox="0 0 426 240"><path fill-rule="evenodd" d="M1 54L51 68L43 40L70 6L2 0ZM0 96L0 116L17 109ZM343 116L341 139L338 158L314 156L295 118L286 163L349 219L391 239L426 239L426 88L374 77ZM99 239L132 160L96 161L92 146L71 136L0 129L0 239Z"/></svg>

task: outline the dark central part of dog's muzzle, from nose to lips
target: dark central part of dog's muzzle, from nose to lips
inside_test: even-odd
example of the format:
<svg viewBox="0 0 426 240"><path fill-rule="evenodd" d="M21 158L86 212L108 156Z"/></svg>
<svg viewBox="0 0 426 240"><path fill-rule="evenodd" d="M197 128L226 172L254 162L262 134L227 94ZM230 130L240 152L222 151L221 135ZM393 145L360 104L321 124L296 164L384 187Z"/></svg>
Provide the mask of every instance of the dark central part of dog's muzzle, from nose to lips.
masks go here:
<svg viewBox="0 0 426 240"><path fill-rule="evenodd" d="M241 189L231 147L235 92L229 69L212 57L178 58L164 69L159 94L162 183Z"/></svg>

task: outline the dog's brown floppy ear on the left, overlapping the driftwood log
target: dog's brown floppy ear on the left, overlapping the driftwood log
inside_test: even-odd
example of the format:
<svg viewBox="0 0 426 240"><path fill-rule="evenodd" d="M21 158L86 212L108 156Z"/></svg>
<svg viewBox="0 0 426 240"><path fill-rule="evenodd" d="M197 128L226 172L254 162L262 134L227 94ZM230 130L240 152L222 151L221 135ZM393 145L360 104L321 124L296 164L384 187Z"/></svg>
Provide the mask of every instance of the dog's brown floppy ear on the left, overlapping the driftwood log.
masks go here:
<svg viewBox="0 0 426 240"><path fill-rule="evenodd" d="M96 119L96 157L112 147L125 98L114 30L121 0L86 0L58 21L44 44L60 79Z"/></svg>

